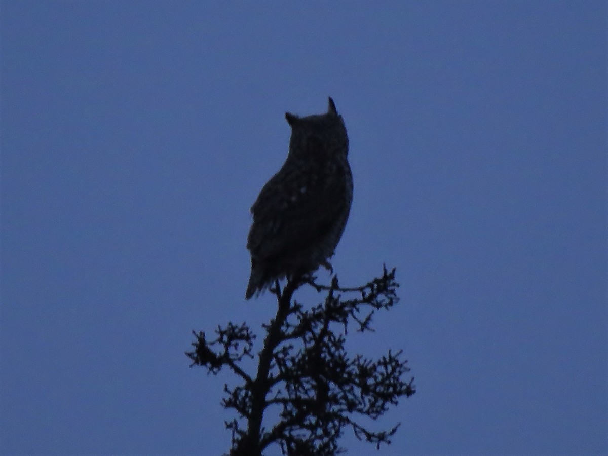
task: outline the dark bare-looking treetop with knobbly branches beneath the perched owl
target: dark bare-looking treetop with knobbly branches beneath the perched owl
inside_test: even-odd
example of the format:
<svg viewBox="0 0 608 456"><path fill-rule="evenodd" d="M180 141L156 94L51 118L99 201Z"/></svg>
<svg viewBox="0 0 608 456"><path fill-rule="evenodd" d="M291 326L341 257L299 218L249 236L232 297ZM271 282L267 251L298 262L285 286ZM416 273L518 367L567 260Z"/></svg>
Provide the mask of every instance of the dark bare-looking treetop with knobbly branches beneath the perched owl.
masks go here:
<svg viewBox="0 0 608 456"><path fill-rule="evenodd" d="M263 325L266 337L255 376L240 367L244 358L254 358L255 334L246 323L219 326L211 341L193 331L194 349L186 353L190 366L214 375L227 367L242 381L236 387L224 386L223 407L238 413L226 422L232 431L230 456L261 456L273 443L284 455L335 455L344 451L338 440L345 427L378 448L390 443L400 423L373 431L358 419L376 420L399 398L415 393L413 378L404 379L410 370L407 361L401 360L401 350L372 360L359 354L350 357L344 347L350 326L362 333L373 331L375 311L398 303L395 269L382 269L381 277L357 288L341 288L336 275L329 286L318 285L311 276L288 281L283 289L277 282L270 290L277 297L277 313ZM292 301L302 285L325 294L323 302L307 310ZM272 407L278 410L278 421L264 427L264 412Z"/></svg>

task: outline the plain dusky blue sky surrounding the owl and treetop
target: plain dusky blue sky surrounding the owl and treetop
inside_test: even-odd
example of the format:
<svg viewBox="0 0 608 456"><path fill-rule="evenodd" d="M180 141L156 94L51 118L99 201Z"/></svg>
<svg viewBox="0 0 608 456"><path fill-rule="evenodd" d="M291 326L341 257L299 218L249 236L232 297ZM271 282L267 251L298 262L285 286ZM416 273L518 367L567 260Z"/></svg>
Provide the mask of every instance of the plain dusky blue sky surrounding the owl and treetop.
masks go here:
<svg viewBox="0 0 608 456"><path fill-rule="evenodd" d="M244 300L249 207L285 111L331 95L354 176L334 268L401 283L349 344L404 350L418 389L375 423L401 421L391 446L347 430L349 454L608 454L607 16L0 2L0 453L229 449L232 376L184 351L274 314Z"/></svg>

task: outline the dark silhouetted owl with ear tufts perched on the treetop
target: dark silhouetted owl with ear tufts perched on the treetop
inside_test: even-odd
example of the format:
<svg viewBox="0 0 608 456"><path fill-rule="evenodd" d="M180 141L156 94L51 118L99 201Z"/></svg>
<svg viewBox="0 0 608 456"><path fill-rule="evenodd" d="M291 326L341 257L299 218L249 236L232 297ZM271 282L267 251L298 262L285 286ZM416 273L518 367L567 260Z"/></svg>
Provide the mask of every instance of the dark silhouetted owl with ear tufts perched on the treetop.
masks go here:
<svg viewBox="0 0 608 456"><path fill-rule="evenodd" d="M286 112L285 119L291 125L289 153L251 207L246 299L275 280L329 266L353 201L348 136L334 100L326 114Z"/></svg>

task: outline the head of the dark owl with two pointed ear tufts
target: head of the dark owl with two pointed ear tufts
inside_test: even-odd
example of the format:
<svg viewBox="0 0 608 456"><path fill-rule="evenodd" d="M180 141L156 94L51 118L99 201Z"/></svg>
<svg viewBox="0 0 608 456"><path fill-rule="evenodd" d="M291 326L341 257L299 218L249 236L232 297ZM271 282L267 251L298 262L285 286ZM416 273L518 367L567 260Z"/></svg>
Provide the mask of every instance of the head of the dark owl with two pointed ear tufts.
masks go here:
<svg viewBox="0 0 608 456"><path fill-rule="evenodd" d="M291 126L289 154L348 154L348 136L344 119L338 114L336 103L329 97L325 114L300 117L285 113Z"/></svg>

